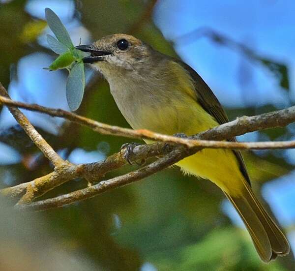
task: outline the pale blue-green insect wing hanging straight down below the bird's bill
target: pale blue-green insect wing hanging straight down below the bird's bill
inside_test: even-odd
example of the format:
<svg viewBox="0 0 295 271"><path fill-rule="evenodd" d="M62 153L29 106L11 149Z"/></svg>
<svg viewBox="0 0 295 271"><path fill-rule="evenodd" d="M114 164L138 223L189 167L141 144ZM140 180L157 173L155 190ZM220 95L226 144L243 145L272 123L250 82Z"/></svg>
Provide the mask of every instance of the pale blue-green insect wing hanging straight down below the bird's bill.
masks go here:
<svg viewBox="0 0 295 271"><path fill-rule="evenodd" d="M72 111L79 108L85 88L85 73L83 62L75 63L66 81L66 99Z"/></svg>

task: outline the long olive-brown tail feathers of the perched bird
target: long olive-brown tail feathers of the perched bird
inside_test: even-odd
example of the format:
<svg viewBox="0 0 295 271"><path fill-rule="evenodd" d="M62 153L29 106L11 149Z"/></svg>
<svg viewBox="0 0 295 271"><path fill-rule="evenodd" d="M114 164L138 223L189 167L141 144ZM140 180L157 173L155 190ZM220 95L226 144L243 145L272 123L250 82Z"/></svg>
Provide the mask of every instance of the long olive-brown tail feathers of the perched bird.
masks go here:
<svg viewBox="0 0 295 271"><path fill-rule="evenodd" d="M267 263L277 256L287 255L290 245L286 237L255 197L249 184L244 184L242 196L225 194L244 221L260 258Z"/></svg>

